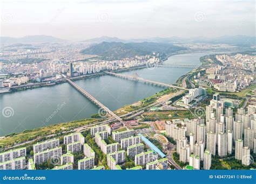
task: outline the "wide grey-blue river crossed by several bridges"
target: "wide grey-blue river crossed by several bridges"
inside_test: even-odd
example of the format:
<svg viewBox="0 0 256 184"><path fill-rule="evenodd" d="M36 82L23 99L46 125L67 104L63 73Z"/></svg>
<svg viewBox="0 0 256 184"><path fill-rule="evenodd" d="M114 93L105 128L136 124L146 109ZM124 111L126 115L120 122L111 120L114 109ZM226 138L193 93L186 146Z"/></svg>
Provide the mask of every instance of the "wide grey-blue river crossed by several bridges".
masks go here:
<svg viewBox="0 0 256 184"><path fill-rule="evenodd" d="M165 63L198 65L200 56L206 54L209 53L173 55ZM138 69L137 74L144 79L174 83L190 70L188 68L156 67ZM124 74L133 74L133 72ZM78 80L76 83L110 110L137 102L164 89L107 75ZM2 111L9 109L11 114L3 116ZM12 132L18 133L50 124L87 118L96 114L98 108L69 83L63 83L52 87L2 94L0 95L0 112L0 136L4 136ZM52 115L53 112L57 113ZM48 118L49 116L51 119Z"/></svg>

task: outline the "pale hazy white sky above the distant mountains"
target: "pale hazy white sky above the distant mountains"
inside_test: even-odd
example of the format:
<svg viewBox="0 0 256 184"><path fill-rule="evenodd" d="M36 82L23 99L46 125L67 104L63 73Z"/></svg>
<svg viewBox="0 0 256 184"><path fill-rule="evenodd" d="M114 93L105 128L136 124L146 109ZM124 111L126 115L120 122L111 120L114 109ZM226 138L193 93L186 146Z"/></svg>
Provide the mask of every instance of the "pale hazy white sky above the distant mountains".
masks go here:
<svg viewBox="0 0 256 184"><path fill-rule="evenodd" d="M232 0L0 0L1 36L67 40L110 36L255 34L255 2Z"/></svg>

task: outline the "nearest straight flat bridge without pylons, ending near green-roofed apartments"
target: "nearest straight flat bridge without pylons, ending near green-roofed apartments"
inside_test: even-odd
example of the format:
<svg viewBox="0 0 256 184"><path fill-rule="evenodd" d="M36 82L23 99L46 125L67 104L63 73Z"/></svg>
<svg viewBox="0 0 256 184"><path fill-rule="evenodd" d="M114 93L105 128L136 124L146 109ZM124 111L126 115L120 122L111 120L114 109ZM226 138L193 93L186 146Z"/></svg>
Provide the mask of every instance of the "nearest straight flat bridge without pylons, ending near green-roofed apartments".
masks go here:
<svg viewBox="0 0 256 184"><path fill-rule="evenodd" d="M75 82L71 81L70 79L68 79L67 77L65 78L66 81L68 81L74 88L76 88L80 93L82 93L84 96L86 96L91 102L93 102L94 104L96 104L99 108L104 109L108 114L110 114L114 119L116 119L117 121L121 122L124 127L126 129L127 128L127 124L126 122L123 121L122 118L120 118L119 116L117 116L116 114L114 114L114 112L112 112L109 108L107 108L105 105L103 105L102 103L100 103L95 97L93 97L92 95L90 95L87 91L85 91L83 88L79 87Z"/></svg>

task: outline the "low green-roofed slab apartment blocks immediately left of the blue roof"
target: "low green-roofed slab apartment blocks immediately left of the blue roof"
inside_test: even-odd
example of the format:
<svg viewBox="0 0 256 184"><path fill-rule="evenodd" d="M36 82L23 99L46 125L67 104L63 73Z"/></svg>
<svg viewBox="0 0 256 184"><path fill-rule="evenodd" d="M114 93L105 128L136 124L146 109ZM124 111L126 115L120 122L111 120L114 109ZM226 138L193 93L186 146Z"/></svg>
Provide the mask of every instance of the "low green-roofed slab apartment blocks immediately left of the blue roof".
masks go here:
<svg viewBox="0 0 256 184"><path fill-rule="evenodd" d="M107 131L108 125L97 125L91 128L91 134L100 149L107 155L107 166L110 169L122 169L120 165L126 161L126 155L134 160L136 167L130 169L167 169L167 158L159 159L153 151L144 152L144 144L140 135L134 136L134 130ZM115 143L106 144L104 139L110 135Z"/></svg>

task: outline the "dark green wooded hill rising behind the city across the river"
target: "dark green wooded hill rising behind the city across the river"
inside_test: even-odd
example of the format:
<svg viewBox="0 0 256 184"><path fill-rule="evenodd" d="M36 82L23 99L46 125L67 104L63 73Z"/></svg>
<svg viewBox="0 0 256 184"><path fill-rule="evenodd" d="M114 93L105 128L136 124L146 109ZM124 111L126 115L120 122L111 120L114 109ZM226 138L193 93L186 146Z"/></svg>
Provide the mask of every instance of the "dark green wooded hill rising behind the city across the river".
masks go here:
<svg viewBox="0 0 256 184"><path fill-rule="evenodd" d="M80 53L93 54L103 56L104 58L123 59L134 57L136 55L146 55L159 53L160 58L165 58L167 55L185 50L184 47L174 46L172 44L142 42L142 43L121 43L121 42L106 42L91 45L83 49Z"/></svg>

